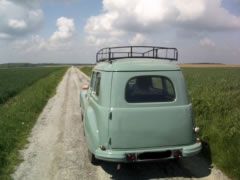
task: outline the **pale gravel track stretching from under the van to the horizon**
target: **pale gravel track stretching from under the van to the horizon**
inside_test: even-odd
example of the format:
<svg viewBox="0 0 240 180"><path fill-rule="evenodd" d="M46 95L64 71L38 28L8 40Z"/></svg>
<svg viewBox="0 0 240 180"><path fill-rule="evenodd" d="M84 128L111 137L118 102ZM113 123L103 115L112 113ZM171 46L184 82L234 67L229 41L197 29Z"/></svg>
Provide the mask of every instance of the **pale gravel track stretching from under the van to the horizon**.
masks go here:
<svg viewBox="0 0 240 180"><path fill-rule="evenodd" d="M67 71L32 130L14 179L227 179L200 156L179 162L122 164L119 170L114 163L91 165L79 106L80 87L86 82L77 68Z"/></svg>

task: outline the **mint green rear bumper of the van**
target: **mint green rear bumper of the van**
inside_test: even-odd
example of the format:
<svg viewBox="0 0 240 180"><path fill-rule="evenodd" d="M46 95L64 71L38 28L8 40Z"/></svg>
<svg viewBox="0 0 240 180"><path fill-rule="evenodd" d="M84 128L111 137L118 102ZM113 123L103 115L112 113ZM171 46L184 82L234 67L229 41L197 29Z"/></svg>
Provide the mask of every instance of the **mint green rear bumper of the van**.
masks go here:
<svg viewBox="0 0 240 180"><path fill-rule="evenodd" d="M135 162L141 161L154 161L154 160L166 160L166 159L174 159L174 152L179 151L181 152L181 157L189 157L198 154L202 149L202 144L197 142L192 145L185 145L185 146L174 146L174 147L162 147L162 148L155 148L155 149L139 149L139 150L106 150L103 151L98 148L94 155L97 159L101 159L104 161L112 161L112 162L129 162L126 158L128 154L134 154L138 157L140 154L143 153L158 153L158 152L166 152L171 151L171 155L169 157L164 157L161 159L136 159Z"/></svg>

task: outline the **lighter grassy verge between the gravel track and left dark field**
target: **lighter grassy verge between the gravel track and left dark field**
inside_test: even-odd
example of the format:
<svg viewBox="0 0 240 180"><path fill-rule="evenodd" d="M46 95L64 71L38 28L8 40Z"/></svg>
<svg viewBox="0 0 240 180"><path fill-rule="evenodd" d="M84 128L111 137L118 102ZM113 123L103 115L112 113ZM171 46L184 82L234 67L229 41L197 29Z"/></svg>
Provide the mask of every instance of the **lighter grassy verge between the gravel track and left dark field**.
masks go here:
<svg viewBox="0 0 240 180"><path fill-rule="evenodd" d="M0 179L10 179L27 137L66 68L40 79L0 107Z"/></svg>

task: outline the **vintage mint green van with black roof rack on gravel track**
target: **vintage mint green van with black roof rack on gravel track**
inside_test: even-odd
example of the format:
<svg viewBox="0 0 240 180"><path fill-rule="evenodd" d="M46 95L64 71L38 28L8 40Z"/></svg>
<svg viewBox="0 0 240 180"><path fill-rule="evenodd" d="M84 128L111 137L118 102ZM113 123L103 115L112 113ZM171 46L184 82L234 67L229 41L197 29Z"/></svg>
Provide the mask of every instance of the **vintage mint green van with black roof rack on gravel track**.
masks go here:
<svg viewBox="0 0 240 180"><path fill-rule="evenodd" d="M175 48L126 46L97 53L80 94L92 163L179 159L201 151Z"/></svg>

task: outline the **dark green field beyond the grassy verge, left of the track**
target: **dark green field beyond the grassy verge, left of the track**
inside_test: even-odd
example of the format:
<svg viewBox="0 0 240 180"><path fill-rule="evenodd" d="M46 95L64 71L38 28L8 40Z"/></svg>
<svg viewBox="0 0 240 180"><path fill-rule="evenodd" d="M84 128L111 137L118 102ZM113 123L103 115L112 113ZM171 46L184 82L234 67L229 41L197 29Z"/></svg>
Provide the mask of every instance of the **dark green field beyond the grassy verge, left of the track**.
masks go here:
<svg viewBox="0 0 240 180"><path fill-rule="evenodd" d="M59 68L10 68L0 69L0 105L18 94L38 79Z"/></svg>

